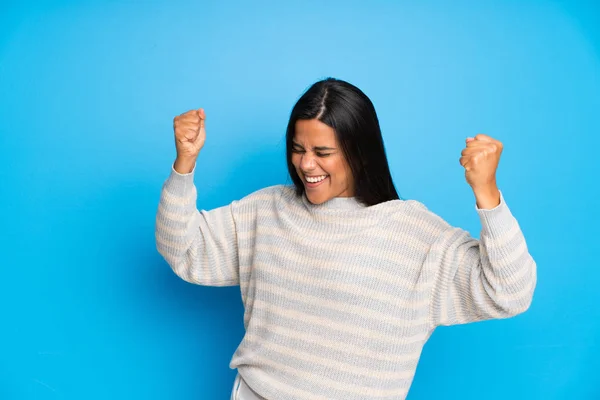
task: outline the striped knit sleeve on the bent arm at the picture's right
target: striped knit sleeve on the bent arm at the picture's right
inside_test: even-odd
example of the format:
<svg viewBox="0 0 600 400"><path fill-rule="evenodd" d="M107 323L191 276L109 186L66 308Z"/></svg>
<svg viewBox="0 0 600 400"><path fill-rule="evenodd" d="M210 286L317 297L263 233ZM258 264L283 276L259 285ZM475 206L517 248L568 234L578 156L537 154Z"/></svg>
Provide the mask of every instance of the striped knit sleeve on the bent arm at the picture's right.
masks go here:
<svg viewBox="0 0 600 400"><path fill-rule="evenodd" d="M536 263L504 196L500 193L493 209L475 209L482 224L479 240L444 223L427 256L435 271L432 327L509 318L531 304Z"/></svg>

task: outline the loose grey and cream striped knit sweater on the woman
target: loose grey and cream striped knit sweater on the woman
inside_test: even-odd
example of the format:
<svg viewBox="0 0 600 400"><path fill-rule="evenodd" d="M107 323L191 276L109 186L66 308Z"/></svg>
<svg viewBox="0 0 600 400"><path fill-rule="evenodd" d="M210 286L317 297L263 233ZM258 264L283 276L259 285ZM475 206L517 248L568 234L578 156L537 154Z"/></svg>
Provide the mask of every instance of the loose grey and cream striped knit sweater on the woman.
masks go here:
<svg viewBox="0 0 600 400"><path fill-rule="evenodd" d="M531 303L536 265L502 194L475 206L476 240L418 201L315 205L286 185L198 210L193 177L171 168L157 248L188 282L240 286L230 367L265 399L404 399L437 326Z"/></svg>

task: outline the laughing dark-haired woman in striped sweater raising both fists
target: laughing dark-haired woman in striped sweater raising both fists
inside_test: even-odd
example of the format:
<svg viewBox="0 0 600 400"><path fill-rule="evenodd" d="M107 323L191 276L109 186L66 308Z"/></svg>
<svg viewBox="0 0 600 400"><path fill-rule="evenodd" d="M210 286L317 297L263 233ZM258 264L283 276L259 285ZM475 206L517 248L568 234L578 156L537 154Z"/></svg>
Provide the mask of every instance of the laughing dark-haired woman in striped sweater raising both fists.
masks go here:
<svg viewBox="0 0 600 400"><path fill-rule="evenodd" d="M293 185L211 211L196 208L193 183L204 121L202 109L175 117L156 240L186 281L240 285L232 399L404 399L437 326L529 307L536 265L496 186L499 141L468 138L460 157L476 240L398 198L373 104L347 82L317 82L293 108Z"/></svg>

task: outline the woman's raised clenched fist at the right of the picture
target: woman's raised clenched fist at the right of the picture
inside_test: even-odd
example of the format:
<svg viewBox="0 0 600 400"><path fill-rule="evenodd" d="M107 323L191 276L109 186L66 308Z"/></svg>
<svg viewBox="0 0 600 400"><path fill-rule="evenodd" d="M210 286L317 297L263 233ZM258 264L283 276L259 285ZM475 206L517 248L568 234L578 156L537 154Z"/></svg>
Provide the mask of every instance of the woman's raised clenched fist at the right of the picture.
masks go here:
<svg viewBox="0 0 600 400"><path fill-rule="evenodd" d="M473 190L496 187L496 169L502 154L502 143L482 134L467 138L466 142L460 165L465 168L467 183Z"/></svg>

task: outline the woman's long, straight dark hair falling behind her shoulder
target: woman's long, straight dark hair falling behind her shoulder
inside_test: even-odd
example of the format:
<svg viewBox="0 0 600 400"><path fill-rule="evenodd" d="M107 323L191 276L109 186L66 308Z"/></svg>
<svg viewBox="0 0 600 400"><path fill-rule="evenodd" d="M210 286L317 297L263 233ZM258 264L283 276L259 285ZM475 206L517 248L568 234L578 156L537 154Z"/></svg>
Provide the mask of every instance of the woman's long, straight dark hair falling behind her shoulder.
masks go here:
<svg viewBox="0 0 600 400"><path fill-rule="evenodd" d="M335 131L354 178L354 196L372 206L398 199L388 166L379 120L371 100L356 86L335 78L316 82L300 97L286 132L286 158L296 194L304 184L292 164L296 121L318 119Z"/></svg>

